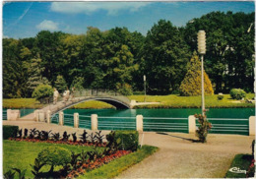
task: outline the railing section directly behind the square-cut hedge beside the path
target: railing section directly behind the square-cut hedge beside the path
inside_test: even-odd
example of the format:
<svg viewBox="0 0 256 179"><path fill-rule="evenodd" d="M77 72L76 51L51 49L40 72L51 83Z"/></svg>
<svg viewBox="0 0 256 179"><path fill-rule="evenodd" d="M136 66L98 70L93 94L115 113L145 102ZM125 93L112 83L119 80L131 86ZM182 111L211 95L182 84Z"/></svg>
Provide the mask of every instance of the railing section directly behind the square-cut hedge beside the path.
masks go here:
<svg viewBox="0 0 256 179"><path fill-rule="evenodd" d="M135 117L97 117L98 130L136 130Z"/></svg>

